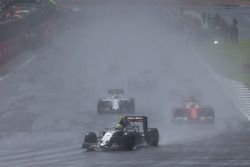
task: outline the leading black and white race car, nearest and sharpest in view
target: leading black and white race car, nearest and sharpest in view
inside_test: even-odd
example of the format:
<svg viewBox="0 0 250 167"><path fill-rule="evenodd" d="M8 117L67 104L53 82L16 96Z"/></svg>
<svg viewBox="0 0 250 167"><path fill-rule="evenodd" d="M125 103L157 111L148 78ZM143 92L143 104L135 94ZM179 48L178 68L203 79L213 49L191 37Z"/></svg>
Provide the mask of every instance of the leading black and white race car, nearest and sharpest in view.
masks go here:
<svg viewBox="0 0 250 167"><path fill-rule="evenodd" d="M125 116L111 129L105 129L97 137L95 132L85 134L83 149L96 150L133 150L139 145L158 146L159 131L148 128L145 116Z"/></svg>

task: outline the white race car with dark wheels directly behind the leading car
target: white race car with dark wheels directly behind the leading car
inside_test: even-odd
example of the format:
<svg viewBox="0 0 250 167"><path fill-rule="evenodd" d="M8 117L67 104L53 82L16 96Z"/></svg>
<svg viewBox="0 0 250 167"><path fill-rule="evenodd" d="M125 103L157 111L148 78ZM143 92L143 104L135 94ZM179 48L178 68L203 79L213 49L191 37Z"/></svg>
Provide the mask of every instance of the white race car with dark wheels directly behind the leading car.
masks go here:
<svg viewBox="0 0 250 167"><path fill-rule="evenodd" d="M101 113L134 113L134 98L124 97L124 90L110 89L108 97L104 97L97 102L97 112Z"/></svg>

